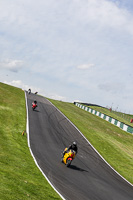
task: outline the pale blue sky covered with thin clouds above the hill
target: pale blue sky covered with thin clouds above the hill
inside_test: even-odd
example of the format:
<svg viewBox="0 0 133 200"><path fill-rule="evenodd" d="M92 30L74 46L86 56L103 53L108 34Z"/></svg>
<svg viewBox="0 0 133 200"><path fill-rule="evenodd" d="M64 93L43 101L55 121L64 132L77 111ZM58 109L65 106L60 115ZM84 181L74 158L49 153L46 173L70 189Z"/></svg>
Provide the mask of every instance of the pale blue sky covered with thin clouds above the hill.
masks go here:
<svg viewBox="0 0 133 200"><path fill-rule="evenodd" d="M0 82L133 114L133 1L0 0Z"/></svg>

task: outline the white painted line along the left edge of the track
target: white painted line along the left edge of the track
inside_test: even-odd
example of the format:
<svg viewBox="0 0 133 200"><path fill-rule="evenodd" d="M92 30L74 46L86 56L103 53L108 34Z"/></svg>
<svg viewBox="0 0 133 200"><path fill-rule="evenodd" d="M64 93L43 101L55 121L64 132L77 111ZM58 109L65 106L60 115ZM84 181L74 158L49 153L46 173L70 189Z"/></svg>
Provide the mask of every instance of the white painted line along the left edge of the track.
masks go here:
<svg viewBox="0 0 133 200"><path fill-rule="evenodd" d="M44 172L42 171L42 169L39 167L37 160L35 159L33 152L31 150L30 147L30 139L29 139L29 114L28 114L28 104L27 104L27 95L26 95L26 91L25 91L25 100L26 100L26 111L27 111L27 122L26 122L26 132L27 132L27 141L28 141L28 147L30 149L30 153L33 157L33 160L36 164L36 166L38 167L38 169L41 171L42 175L46 178L46 180L48 181L48 183L52 186L52 188L55 190L55 192L63 199L66 200L59 192L58 190L52 185L52 183L50 182L50 180L47 178L47 176L44 174Z"/></svg>

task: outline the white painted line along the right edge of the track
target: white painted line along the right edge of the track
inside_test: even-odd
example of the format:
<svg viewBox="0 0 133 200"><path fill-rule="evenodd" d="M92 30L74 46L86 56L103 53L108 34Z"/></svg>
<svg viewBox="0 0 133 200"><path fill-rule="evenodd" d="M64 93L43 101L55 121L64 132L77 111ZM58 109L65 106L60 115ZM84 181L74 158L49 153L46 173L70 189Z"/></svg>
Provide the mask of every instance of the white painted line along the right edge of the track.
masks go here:
<svg viewBox="0 0 133 200"><path fill-rule="evenodd" d="M48 99L47 99L48 100ZM49 100L48 100L49 101ZM50 102L50 101L49 101ZM51 103L51 102L50 102ZM51 103L52 104L52 103ZM96 153L104 160L104 162L116 173L118 174L122 179L124 179L127 183L129 183L131 186L133 186L132 183L130 183L128 180L126 180L121 174L119 174L103 157L102 155L95 149L95 147L87 140L87 138L83 135L83 133L64 115L54 104L52 104L83 136L83 138L90 144L90 146L96 151Z"/></svg>

